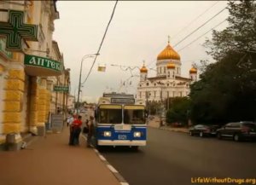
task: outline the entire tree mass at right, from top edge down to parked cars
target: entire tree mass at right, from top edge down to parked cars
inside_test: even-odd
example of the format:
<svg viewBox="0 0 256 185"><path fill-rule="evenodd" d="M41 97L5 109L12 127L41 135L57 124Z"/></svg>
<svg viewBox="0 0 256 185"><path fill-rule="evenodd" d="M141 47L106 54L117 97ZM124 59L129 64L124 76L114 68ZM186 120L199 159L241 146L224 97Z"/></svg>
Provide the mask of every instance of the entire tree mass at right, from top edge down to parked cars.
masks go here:
<svg viewBox="0 0 256 185"><path fill-rule="evenodd" d="M228 9L229 26L205 43L217 62L203 65L201 80L191 85L196 124L256 120L256 3L229 1Z"/></svg>

